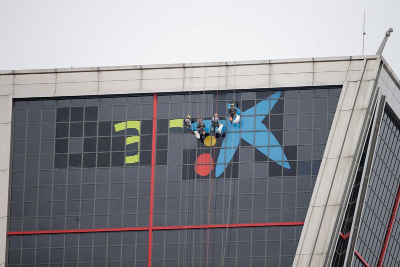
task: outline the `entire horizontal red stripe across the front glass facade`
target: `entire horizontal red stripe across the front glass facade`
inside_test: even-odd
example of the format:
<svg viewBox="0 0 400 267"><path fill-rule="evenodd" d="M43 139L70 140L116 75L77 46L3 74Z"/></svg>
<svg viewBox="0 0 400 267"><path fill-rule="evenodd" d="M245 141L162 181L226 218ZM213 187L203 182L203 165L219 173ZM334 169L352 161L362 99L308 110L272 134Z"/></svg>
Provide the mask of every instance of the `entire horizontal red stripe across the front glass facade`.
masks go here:
<svg viewBox="0 0 400 267"><path fill-rule="evenodd" d="M153 226L151 230L181 230L181 229L210 229L210 228L235 228L235 227L262 227L262 226L299 226L304 222L283 223L254 223L254 224L228 224L228 225L179 225L179 226ZM122 227L122 228L99 228L99 229L71 229L71 230L40 230L8 232L8 236L14 235L40 235L40 234L71 234L71 233L97 233L97 232L122 232L122 231L148 231L149 227Z"/></svg>

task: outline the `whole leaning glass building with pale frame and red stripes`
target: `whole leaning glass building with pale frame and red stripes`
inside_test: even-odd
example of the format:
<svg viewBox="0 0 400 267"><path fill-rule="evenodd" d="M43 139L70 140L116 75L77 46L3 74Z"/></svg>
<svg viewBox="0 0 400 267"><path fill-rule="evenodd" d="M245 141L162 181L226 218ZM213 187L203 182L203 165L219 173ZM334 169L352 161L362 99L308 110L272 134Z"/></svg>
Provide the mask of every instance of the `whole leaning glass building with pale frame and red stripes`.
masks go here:
<svg viewBox="0 0 400 267"><path fill-rule="evenodd" d="M0 265L400 264L380 55L2 71L0 95Z"/></svg>

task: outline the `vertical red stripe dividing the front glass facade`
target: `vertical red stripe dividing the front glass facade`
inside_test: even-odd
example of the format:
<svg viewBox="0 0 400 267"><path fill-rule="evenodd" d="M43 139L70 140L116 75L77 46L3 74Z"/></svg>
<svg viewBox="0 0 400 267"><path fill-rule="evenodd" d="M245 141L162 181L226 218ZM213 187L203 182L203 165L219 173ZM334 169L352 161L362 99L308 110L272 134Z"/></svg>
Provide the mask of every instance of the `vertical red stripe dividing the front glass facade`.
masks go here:
<svg viewBox="0 0 400 267"><path fill-rule="evenodd" d="M155 138L157 135L157 94L153 95L153 129L151 139L151 176L150 176L150 211L148 213L148 252L147 267L151 267L151 249L152 249L152 227L153 227L153 211L154 211L154 171L155 171Z"/></svg>

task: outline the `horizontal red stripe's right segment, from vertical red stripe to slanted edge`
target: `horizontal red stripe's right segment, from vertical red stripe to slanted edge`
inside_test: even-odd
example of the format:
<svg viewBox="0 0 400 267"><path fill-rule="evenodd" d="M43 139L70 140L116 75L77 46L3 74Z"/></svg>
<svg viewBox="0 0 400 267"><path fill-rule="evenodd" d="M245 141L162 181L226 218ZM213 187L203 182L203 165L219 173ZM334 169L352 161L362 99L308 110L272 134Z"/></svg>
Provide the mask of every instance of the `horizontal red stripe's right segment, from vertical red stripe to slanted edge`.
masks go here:
<svg viewBox="0 0 400 267"><path fill-rule="evenodd" d="M222 224L222 225L179 225L179 226L154 226L153 230L177 230L177 229L209 229L209 228L234 228L234 227L260 227L260 226L297 226L304 225L304 222L284 223L254 223L254 224Z"/></svg>

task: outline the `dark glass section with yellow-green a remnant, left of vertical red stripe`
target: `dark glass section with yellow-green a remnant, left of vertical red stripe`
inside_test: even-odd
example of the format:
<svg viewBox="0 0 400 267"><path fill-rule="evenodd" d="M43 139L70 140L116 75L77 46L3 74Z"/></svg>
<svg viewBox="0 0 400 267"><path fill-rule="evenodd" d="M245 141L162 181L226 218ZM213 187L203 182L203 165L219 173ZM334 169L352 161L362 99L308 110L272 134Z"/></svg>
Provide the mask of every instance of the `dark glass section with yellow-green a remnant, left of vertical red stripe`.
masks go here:
<svg viewBox="0 0 400 267"><path fill-rule="evenodd" d="M15 102L9 231L148 226L152 100Z"/></svg>

